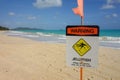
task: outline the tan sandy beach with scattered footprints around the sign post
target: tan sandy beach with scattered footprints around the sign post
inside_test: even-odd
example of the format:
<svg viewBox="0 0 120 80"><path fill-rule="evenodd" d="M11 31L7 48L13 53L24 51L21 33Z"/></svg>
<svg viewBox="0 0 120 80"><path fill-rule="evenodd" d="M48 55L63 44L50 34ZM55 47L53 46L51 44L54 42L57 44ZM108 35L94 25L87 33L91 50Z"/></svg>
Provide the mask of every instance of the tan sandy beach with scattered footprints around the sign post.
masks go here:
<svg viewBox="0 0 120 80"><path fill-rule="evenodd" d="M0 32L0 80L79 80L79 68L66 65L66 44ZM98 67L84 68L83 80L120 80L120 49L100 47Z"/></svg>

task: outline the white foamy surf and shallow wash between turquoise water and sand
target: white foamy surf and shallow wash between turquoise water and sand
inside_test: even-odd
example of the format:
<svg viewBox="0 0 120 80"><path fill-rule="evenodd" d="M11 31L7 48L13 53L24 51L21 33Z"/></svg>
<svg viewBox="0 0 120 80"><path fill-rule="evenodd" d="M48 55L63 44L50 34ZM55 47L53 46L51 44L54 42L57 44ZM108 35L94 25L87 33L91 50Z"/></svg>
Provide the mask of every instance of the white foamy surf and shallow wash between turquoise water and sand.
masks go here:
<svg viewBox="0 0 120 80"><path fill-rule="evenodd" d="M66 36L63 34L43 34L19 31L5 31L4 34L11 37L26 38L39 42L66 44ZM120 37L102 36L99 37L99 43L99 45L103 47L120 49Z"/></svg>

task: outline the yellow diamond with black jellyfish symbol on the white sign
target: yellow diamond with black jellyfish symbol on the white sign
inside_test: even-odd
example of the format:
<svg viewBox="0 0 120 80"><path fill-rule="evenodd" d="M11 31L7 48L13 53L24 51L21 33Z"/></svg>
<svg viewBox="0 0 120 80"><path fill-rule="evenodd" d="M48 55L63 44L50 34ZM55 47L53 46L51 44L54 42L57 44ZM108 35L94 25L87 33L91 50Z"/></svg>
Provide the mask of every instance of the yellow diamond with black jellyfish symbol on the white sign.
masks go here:
<svg viewBox="0 0 120 80"><path fill-rule="evenodd" d="M82 38L72 47L80 56L85 55L91 49L91 46Z"/></svg>

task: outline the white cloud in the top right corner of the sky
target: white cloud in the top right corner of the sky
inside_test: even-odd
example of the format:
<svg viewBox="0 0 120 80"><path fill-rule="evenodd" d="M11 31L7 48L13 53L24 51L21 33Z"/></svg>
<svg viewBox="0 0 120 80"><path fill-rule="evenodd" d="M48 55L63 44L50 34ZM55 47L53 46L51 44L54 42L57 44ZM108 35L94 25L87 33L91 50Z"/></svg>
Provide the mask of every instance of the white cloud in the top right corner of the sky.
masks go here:
<svg viewBox="0 0 120 80"><path fill-rule="evenodd" d="M106 4L104 4L101 9L113 9L116 8L115 4L120 4L120 0L106 0Z"/></svg>

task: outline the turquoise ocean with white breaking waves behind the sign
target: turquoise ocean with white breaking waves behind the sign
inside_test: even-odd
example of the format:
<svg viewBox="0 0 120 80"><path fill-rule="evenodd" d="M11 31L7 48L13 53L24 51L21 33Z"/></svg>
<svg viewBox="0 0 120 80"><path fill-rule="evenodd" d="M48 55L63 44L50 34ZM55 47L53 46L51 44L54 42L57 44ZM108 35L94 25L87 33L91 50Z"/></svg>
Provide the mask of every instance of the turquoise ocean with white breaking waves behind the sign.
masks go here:
<svg viewBox="0 0 120 80"><path fill-rule="evenodd" d="M12 30L8 36L18 36L36 41L66 43L66 30ZM120 30L100 30L100 46L120 49Z"/></svg>

